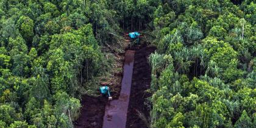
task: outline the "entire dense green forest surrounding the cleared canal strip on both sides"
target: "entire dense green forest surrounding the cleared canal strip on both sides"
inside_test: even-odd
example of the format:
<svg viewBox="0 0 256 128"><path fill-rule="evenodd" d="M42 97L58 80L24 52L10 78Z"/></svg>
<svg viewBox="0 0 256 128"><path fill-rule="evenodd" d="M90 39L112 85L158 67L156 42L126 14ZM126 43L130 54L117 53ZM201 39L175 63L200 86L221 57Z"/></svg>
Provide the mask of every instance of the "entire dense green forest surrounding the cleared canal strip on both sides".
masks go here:
<svg viewBox="0 0 256 128"><path fill-rule="evenodd" d="M73 127L128 30L157 46L151 127L256 127L253 0L1 0L0 17L0 127Z"/></svg>

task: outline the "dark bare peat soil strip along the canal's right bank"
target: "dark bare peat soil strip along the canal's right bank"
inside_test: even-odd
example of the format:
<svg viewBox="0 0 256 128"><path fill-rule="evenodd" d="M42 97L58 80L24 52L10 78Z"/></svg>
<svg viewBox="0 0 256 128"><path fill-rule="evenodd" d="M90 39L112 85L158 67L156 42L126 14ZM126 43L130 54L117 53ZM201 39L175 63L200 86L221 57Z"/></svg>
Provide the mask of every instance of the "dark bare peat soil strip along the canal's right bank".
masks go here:
<svg viewBox="0 0 256 128"><path fill-rule="evenodd" d="M151 67L148 63L148 57L156 48L154 46L147 46L146 42L144 42L141 46L132 49L136 52L126 128L146 128L150 124L150 110L148 105L144 103L151 96L151 93L146 92L151 85Z"/></svg>

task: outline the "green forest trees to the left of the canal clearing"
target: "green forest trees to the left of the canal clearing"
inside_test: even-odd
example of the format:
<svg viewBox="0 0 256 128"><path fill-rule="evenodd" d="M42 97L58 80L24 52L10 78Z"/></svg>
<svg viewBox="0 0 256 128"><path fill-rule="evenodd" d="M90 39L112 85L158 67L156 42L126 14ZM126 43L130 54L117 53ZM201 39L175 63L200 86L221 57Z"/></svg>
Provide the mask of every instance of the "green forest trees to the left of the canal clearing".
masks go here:
<svg viewBox="0 0 256 128"><path fill-rule="evenodd" d="M76 98L110 71L101 48L120 32L110 2L0 2L0 127L73 127Z"/></svg>

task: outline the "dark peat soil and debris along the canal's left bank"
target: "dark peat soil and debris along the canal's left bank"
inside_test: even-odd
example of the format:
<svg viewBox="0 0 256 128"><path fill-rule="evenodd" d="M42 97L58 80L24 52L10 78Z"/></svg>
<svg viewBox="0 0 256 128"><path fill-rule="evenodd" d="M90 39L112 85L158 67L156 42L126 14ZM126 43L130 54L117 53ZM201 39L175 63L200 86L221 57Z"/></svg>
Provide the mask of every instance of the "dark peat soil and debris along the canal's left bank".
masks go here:
<svg viewBox="0 0 256 128"><path fill-rule="evenodd" d="M116 63L115 68L120 68L122 70L114 71L112 77L107 80L110 83L111 95L114 99L118 99L121 91L121 81L123 77L123 61L124 53L118 53L115 55ZM82 101L80 102L82 108L80 109L80 116L77 121L74 121L74 126L76 128L102 128L103 117L105 114L105 105L108 104L108 98L104 96L82 96Z"/></svg>

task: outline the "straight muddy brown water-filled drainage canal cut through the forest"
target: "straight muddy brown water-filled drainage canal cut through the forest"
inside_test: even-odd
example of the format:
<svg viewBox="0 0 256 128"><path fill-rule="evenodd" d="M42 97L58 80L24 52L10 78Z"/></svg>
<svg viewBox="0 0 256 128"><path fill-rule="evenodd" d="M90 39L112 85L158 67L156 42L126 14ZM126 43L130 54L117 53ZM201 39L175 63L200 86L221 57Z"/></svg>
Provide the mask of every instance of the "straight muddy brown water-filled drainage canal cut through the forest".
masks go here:
<svg viewBox="0 0 256 128"><path fill-rule="evenodd" d="M132 72L135 51L126 51L123 66L123 79L121 93L117 100L110 101L105 106L103 128L125 128L127 110L130 99L130 87L132 85Z"/></svg>

